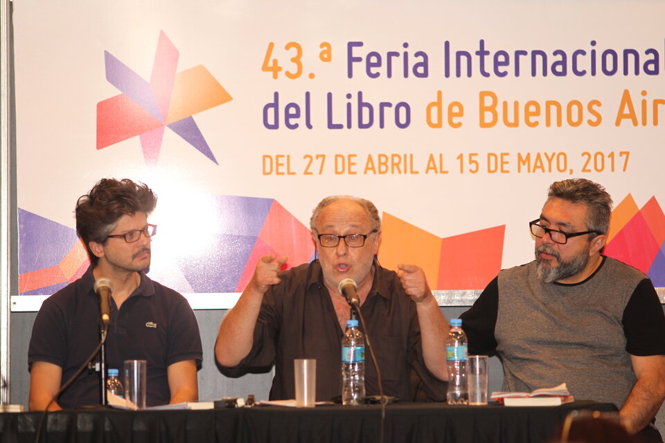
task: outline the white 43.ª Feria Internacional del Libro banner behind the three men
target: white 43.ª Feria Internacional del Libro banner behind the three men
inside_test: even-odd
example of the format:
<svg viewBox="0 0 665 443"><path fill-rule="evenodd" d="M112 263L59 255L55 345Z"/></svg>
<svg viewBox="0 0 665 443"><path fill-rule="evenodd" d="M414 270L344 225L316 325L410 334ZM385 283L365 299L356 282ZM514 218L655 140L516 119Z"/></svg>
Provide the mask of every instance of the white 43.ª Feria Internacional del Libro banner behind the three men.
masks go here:
<svg viewBox="0 0 665 443"><path fill-rule="evenodd" d="M148 184L155 280L242 291L314 260L329 195L370 199L378 260L477 291L533 260L553 181L614 199L605 254L665 287L665 3L13 3L19 293L89 265L78 197ZM220 295L222 296L222 295Z"/></svg>

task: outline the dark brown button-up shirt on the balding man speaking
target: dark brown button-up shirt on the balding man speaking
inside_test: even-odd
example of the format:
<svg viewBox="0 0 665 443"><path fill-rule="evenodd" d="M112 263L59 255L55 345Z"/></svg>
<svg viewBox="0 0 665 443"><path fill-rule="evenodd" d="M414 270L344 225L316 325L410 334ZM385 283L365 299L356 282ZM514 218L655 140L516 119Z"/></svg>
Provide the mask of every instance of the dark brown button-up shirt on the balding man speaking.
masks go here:
<svg viewBox="0 0 665 443"><path fill-rule="evenodd" d="M423 362L416 304L394 271L378 263L374 266L373 285L360 310L368 328L363 333L369 333L379 363L384 394L414 401L416 388L423 388L429 397L445 399L445 383L435 379ZM240 365L226 369L237 374L275 365L270 399L293 399L293 360L317 359L317 401L339 396L344 332L323 284L321 265L318 260L302 264L285 271L281 280L263 297L251 351ZM366 395L379 394L368 349L365 386Z"/></svg>

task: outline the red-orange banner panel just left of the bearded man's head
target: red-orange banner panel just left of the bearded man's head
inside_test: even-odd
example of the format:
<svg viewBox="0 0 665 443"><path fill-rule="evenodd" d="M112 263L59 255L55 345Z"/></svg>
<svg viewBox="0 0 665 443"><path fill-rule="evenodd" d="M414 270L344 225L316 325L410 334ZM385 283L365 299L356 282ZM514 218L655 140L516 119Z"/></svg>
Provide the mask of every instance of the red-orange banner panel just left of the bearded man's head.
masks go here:
<svg viewBox="0 0 665 443"><path fill-rule="evenodd" d="M506 226L441 240L437 289L484 289L501 269Z"/></svg>

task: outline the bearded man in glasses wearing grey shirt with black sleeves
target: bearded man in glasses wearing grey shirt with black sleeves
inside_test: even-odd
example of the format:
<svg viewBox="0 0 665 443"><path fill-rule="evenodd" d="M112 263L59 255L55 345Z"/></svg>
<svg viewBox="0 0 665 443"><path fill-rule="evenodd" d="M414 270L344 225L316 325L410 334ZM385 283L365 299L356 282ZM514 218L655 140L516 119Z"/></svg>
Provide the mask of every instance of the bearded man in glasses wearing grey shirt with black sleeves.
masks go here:
<svg viewBox="0 0 665 443"><path fill-rule="evenodd" d="M586 179L557 181L529 222L535 260L501 271L462 314L471 354L498 354L504 390L567 383L578 400L613 403L623 424L660 442L665 316L651 280L601 254L612 199Z"/></svg>

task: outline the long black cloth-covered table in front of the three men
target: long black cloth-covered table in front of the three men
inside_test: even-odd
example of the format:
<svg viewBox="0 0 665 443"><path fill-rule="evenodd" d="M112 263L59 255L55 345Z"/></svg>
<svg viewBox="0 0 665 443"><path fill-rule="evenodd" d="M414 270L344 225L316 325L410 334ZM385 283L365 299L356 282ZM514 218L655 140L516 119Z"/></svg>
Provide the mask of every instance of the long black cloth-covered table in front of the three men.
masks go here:
<svg viewBox="0 0 665 443"><path fill-rule="evenodd" d="M592 401L530 408L391 404L385 408L384 442L548 442L574 409L617 410ZM0 443L35 442L40 417L0 414ZM42 442L380 443L380 417L380 406L67 410L48 414Z"/></svg>

